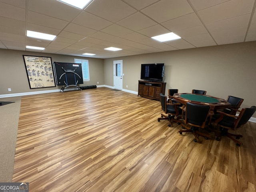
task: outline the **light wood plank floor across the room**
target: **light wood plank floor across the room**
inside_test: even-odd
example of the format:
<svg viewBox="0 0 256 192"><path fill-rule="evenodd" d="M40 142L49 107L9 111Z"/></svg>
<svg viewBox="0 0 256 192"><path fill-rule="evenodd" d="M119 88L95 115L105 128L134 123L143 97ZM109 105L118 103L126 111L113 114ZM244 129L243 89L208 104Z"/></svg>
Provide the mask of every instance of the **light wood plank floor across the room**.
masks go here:
<svg viewBox="0 0 256 192"><path fill-rule="evenodd" d="M110 88L23 96L13 182L30 192L255 192L256 123L193 141L160 102Z"/></svg>

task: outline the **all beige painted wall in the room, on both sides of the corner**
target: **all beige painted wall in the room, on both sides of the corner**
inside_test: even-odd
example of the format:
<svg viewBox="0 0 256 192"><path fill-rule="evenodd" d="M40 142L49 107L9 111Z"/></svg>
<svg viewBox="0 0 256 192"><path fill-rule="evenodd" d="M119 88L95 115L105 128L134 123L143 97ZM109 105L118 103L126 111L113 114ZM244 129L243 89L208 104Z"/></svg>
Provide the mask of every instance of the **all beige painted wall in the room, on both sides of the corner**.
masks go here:
<svg viewBox="0 0 256 192"><path fill-rule="evenodd" d="M179 92L201 89L206 90L208 95L224 99L228 95L244 98L242 107L250 107L256 105L255 50L256 41L104 60L81 57L89 60L90 67L91 81L84 85L113 86L113 61L123 60L123 88L137 92L140 65L142 63L164 63L166 95L170 88L178 88ZM61 88L59 86L30 89L23 54L48 56L56 62L74 62L74 58L79 58L0 49L0 95ZM12 92L8 92L8 88L12 88Z"/></svg>

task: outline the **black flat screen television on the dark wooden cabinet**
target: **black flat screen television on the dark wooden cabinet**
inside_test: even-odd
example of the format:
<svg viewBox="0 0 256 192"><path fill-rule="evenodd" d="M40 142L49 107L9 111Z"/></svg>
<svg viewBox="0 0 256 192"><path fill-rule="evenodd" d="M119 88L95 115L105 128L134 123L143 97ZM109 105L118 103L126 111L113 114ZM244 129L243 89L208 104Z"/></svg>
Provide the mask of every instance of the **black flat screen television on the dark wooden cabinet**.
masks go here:
<svg viewBox="0 0 256 192"><path fill-rule="evenodd" d="M164 80L164 63L141 64L140 79L162 82Z"/></svg>

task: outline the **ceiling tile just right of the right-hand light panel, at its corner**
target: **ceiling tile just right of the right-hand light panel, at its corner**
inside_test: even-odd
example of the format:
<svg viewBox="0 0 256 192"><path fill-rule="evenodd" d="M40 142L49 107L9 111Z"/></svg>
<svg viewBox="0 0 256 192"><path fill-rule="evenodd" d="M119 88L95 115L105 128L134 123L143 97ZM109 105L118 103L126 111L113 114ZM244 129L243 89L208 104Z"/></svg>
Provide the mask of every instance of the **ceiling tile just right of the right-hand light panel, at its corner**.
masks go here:
<svg viewBox="0 0 256 192"><path fill-rule="evenodd" d="M190 36L190 37L184 38L184 40L194 45L195 47L206 47L206 46L216 45L216 43L214 42L214 40L209 34Z"/></svg>

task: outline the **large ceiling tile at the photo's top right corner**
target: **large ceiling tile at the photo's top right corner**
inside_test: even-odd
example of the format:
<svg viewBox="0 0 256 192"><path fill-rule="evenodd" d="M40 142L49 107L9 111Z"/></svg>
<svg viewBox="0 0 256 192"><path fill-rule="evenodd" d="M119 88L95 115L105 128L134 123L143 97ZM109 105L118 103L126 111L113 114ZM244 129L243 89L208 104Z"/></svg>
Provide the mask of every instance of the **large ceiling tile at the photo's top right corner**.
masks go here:
<svg viewBox="0 0 256 192"><path fill-rule="evenodd" d="M255 0L246 0L246 3L244 3L244 1L241 0L231 0L200 10L198 11L198 15L204 24L241 16L252 12L254 1Z"/></svg>

